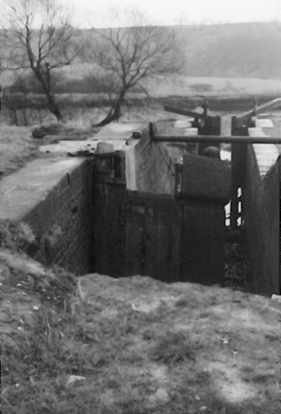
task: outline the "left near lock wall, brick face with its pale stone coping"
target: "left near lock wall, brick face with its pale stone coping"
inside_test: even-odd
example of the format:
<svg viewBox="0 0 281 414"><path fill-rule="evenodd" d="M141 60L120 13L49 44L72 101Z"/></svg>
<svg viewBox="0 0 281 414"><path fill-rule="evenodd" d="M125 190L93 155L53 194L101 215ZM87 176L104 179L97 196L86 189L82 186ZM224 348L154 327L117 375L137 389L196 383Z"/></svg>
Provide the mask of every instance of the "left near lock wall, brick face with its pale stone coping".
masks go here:
<svg viewBox="0 0 281 414"><path fill-rule="evenodd" d="M1 219L27 222L37 239L29 253L74 274L92 266L93 179L89 159L38 159L0 185Z"/></svg>

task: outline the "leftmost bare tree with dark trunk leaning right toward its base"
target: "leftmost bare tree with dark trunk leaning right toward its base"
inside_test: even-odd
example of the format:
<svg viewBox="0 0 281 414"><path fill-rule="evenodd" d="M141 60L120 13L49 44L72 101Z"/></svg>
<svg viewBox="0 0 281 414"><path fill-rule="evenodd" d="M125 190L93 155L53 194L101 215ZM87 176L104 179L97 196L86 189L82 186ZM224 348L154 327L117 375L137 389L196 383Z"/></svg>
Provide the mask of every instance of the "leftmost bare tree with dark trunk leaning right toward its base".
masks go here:
<svg viewBox="0 0 281 414"><path fill-rule="evenodd" d="M1 63L4 69L31 69L46 95L48 109L61 121L55 100L58 69L70 65L81 53L74 29L55 0L6 0L8 26L2 31Z"/></svg>

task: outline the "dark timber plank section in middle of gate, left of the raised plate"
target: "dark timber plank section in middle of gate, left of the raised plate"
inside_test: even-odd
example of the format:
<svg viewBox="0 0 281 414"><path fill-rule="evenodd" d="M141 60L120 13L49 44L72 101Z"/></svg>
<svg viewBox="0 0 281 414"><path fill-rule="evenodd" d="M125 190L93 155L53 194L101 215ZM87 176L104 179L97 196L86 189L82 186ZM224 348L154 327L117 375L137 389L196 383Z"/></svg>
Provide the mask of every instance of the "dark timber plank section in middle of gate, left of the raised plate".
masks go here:
<svg viewBox="0 0 281 414"><path fill-rule="evenodd" d="M182 206L158 194L129 192L126 274L175 281L180 273Z"/></svg>

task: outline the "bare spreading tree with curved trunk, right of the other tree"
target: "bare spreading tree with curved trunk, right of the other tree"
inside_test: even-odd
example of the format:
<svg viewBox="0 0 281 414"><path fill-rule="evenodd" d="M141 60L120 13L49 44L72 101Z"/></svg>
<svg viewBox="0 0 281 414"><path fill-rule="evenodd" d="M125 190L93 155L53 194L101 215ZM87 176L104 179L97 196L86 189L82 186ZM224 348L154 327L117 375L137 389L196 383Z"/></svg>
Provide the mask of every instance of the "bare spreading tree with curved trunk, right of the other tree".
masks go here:
<svg viewBox="0 0 281 414"><path fill-rule="evenodd" d="M100 88L107 89L111 104L98 126L119 119L132 88L138 86L148 93L145 79L178 74L185 65L184 48L169 27L134 25L100 31L93 28L93 32L91 58L98 65Z"/></svg>

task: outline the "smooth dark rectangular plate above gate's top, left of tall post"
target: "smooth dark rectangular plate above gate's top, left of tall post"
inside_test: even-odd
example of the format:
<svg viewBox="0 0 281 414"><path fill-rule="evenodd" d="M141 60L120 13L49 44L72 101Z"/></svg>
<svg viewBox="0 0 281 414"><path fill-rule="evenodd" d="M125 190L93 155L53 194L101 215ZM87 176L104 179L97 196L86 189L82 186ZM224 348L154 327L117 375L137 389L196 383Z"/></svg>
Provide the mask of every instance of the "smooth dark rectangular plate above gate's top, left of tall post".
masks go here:
<svg viewBox="0 0 281 414"><path fill-rule="evenodd" d="M183 196L230 200L230 165L226 161L186 154L183 156Z"/></svg>

